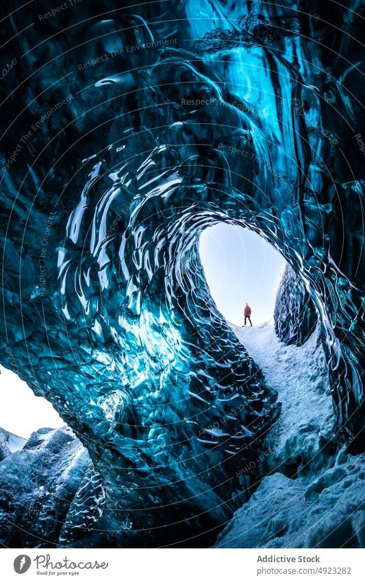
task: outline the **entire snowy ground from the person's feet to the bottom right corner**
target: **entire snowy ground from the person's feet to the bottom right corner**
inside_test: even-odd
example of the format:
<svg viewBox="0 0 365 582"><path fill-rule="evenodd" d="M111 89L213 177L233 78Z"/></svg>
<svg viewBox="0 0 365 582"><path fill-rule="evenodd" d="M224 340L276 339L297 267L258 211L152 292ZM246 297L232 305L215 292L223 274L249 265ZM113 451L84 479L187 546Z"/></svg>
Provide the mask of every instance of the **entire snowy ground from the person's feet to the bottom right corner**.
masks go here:
<svg viewBox="0 0 365 582"><path fill-rule="evenodd" d="M297 347L279 342L273 324L231 328L277 390L281 413L266 435L266 476L216 546L364 547L364 455L338 452L317 333Z"/></svg>

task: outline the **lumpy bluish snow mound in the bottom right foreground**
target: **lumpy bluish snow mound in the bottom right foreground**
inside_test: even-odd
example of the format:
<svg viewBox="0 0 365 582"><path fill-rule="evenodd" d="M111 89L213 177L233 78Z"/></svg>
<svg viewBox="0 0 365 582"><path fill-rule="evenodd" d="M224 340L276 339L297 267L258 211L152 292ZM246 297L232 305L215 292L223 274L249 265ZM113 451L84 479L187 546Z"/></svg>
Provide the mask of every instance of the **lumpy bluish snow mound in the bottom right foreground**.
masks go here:
<svg viewBox="0 0 365 582"><path fill-rule="evenodd" d="M267 476L238 509L218 548L365 547L365 460L343 451L311 483Z"/></svg>

